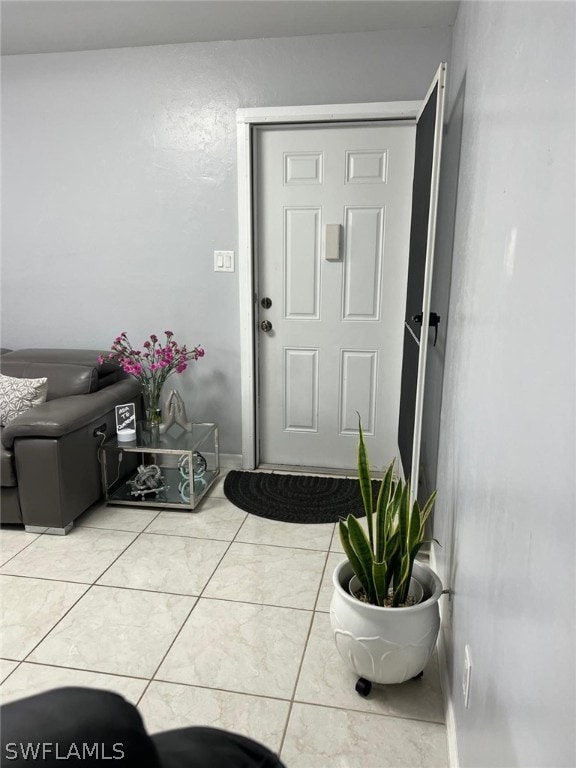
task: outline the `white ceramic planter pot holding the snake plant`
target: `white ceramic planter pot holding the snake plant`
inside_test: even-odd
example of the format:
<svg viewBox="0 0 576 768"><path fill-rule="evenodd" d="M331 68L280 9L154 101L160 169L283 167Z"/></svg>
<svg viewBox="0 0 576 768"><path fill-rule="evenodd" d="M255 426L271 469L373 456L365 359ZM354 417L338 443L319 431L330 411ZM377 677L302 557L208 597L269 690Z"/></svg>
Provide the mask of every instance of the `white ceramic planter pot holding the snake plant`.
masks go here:
<svg viewBox="0 0 576 768"><path fill-rule="evenodd" d="M358 677L373 683L403 683L416 677L432 655L440 628L440 579L427 565L415 562L412 573L423 587L422 602L380 608L348 592L353 573L344 560L332 579L330 621L340 656Z"/></svg>

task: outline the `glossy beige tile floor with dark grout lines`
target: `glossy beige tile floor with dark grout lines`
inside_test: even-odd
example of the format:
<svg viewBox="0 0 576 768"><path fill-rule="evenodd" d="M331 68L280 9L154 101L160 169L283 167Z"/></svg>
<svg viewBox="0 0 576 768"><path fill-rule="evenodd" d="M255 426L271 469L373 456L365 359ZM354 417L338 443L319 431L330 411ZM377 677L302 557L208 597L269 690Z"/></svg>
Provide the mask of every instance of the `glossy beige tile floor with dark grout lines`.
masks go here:
<svg viewBox="0 0 576 768"><path fill-rule="evenodd" d="M287 768L445 768L436 661L368 698L329 620L333 525L247 515L219 480L197 512L96 505L65 537L0 530L0 700L116 691L150 732L250 736Z"/></svg>

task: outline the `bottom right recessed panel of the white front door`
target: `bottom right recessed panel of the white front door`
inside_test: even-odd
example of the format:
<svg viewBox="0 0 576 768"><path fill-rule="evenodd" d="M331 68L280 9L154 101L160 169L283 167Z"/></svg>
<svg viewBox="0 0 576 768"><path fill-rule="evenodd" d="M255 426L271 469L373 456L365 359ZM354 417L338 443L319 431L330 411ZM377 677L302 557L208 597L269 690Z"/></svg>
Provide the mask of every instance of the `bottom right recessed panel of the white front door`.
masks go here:
<svg viewBox="0 0 576 768"><path fill-rule="evenodd" d="M373 435L376 429L378 352L343 349L340 353L340 434L358 434L358 414L362 429Z"/></svg>

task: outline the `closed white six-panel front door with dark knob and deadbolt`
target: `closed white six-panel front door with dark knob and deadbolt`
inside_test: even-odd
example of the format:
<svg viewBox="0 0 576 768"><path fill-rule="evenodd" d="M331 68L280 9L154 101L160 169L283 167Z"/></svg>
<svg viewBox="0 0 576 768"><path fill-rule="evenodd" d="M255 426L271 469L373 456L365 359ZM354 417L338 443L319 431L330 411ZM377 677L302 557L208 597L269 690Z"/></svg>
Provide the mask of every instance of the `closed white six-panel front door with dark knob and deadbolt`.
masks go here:
<svg viewBox="0 0 576 768"><path fill-rule="evenodd" d="M260 464L397 455L415 128L255 131ZM264 326L262 326L264 323Z"/></svg>

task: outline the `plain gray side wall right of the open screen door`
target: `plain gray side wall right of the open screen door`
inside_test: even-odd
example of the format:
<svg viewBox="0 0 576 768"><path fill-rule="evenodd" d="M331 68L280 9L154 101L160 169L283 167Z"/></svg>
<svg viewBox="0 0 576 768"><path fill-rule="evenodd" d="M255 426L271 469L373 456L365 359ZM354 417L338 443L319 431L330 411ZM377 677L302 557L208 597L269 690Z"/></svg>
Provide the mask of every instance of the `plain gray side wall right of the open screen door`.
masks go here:
<svg viewBox="0 0 576 768"><path fill-rule="evenodd" d="M466 768L576 765L574 31L573 3L466 2L453 33L435 535Z"/></svg>

